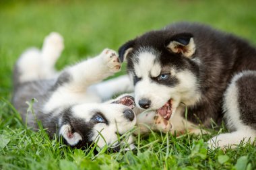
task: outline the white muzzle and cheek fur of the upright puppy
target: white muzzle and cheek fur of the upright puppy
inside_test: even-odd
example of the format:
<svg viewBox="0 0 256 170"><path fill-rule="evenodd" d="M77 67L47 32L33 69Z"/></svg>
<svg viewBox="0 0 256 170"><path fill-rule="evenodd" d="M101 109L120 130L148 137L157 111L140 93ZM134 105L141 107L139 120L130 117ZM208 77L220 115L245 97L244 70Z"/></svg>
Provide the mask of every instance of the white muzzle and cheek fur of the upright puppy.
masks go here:
<svg viewBox="0 0 256 170"><path fill-rule="evenodd" d="M172 73L174 73L179 81L174 87L154 83L150 79L144 79L143 77L135 85L135 102L138 103L139 99L142 98L150 99L152 101L150 109L159 109L170 98L173 99L173 107L178 106L180 102L193 105L199 101L201 93L197 90L197 82L193 73L189 71L175 71L174 68L172 68Z"/></svg>

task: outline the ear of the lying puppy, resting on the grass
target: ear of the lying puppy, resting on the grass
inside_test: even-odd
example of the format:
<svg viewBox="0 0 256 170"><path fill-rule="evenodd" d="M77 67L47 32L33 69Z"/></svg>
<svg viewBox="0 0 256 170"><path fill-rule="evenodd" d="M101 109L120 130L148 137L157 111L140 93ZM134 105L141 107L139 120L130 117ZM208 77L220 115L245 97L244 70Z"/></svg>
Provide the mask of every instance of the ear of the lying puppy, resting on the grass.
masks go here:
<svg viewBox="0 0 256 170"><path fill-rule="evenodd" d="M69 124L65 124L61 126L61 129L59 130L59 135L63 136L65 140L67 141L67 144L70 146L75 146L79 142L79 140L82 140L82 136L78 134L77 132L72 132L71 126Z"/></svg>

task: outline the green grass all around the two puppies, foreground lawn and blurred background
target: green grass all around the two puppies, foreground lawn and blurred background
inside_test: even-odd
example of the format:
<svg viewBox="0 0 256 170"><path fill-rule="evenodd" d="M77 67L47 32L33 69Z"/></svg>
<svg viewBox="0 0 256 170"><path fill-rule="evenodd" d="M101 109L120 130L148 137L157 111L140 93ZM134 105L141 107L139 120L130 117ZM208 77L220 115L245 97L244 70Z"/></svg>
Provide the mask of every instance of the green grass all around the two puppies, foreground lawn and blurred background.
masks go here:
<svg viewBox="0 0 256 170"><path fill-rule="evenodd" d="M104 148L94 155L50 140L44 130L29 130L9 103L15 60L26 48L40 47L49 32L65 38L61 69L177 21L210 24L255 44L255 6L256 1L0 1L0 169L256 169L255 146L208 151L205 141L214 130L203 137L137 136L133 152Z"/></svg>

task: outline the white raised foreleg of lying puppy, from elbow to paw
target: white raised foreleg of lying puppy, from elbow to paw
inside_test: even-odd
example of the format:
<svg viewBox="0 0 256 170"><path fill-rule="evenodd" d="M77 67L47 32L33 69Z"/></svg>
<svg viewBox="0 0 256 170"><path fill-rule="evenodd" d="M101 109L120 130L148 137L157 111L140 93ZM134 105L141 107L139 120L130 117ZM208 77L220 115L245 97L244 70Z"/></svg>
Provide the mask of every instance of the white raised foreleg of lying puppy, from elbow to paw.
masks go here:
<svg viewBox="0 0 256 170"><path fill-rule="evenodd" d="M100 55L94 58L79 62L72 67L67 67L59 76L58 81L63 81L63 78L69 77L69 81L65 82L65 89L83 92L90 85L114 75L120 68L121 63L117 53L114 50L104 49Z"/></svg>

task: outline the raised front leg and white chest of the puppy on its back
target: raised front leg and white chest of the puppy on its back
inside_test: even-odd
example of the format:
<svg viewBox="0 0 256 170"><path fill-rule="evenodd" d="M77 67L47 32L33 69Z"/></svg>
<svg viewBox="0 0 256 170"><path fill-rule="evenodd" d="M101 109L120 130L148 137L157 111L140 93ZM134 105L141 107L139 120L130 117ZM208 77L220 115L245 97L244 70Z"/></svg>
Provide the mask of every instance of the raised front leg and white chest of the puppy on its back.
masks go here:
<svg viewBox="0 0 256 170"><path fill-rule="evenodd" d="M46 112L63 105L100 101L96 95L88 92L88 87L113 75L121 68L117 53L110 49L88 60L67 67L59 75L53 86L53 94L45 105Z"/></svg>

